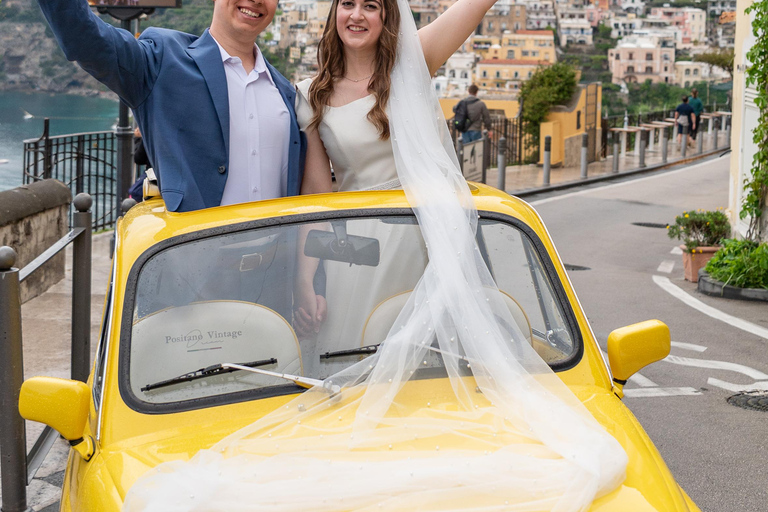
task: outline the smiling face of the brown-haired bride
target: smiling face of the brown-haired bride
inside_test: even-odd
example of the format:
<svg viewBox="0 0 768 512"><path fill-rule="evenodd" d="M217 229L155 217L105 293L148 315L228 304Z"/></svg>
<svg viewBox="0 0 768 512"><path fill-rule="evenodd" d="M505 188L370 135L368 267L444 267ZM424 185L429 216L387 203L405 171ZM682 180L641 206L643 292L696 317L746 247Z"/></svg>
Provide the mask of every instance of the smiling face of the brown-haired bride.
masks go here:
<svg viewBox="0 0 768 512"><path fill-rule="evenodd" d="M336 30L345 48L375 49L384 25L384 8L379 0L340 0L336 9Z"/></svg>

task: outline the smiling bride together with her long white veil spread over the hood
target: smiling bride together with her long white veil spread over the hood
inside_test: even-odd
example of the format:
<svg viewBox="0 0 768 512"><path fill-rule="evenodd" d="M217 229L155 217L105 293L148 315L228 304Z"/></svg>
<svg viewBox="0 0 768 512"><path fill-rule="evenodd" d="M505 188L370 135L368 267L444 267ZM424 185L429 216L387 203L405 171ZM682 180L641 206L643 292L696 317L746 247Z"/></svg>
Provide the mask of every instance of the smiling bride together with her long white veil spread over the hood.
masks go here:
<svg viewBox="0 0 768 512"><path fill-rule="evenodd" d="M330 191L329 158L340 190L399 184L426 268L374 355L149 471L124 510L576 512L621 484L623 449L525 342L480 255L432 88L491 4L458 0L417 32L407 0L334 1L318 77L299 85L302 191ZM302 307L321 320L316 301ZM450 406L414 407L420 363L435 352Z"/></svg>

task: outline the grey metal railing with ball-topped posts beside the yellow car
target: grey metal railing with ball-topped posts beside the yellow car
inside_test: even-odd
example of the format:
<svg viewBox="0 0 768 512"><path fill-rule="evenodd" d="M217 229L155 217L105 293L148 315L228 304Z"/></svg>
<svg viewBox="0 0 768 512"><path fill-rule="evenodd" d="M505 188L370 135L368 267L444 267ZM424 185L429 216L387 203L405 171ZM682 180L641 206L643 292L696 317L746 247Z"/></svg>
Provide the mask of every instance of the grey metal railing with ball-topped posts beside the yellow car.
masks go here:
<svg viewBox="0 0 768 512"><path fill-rule="evenodd" d="M56 441L46 426L29 453L19 392L24 381L20 284L44 263L72 244L71 376L85 382L91 355L91 233L92 199L78 194L73 201L72 230L24 268L15 268L16 252L0 247L0 478L2 512L26 512L27 485Z"/></svg>

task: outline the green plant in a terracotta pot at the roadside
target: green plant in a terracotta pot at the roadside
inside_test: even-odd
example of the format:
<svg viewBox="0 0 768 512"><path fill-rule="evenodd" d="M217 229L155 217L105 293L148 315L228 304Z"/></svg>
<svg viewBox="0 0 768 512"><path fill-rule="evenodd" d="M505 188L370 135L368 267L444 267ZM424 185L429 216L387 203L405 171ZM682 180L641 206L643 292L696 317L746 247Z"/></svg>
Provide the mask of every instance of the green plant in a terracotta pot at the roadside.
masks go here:
<svg viewBox="0 0 768 512"><path fill-rule="evenodd" d="M731 234L731 225L722 208L688 211L675 217L675 223L667 226L667 234L683 242L680 248L685 279L695 283L699 280L699 269L704 268L722 240Z"/></svg>

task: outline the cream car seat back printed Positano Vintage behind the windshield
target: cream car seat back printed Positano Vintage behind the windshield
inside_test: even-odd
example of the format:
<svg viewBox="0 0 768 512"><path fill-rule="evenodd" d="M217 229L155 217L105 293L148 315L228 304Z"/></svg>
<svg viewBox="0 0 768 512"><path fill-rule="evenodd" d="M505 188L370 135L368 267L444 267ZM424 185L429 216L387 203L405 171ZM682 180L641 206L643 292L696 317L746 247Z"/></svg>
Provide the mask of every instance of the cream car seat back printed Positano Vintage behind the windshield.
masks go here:
<svg viewBox="0 0 768 512"><path fill-rule="evenodd" d="M172 402L286 384L276 377L245 371L206 377L155 390L150 383L218 363L270 358L265 370L302 374L301 350L290 324L275 311L241 301L195 302L148 315L133 325L130 351L133 393L149 402Z"/></svg>

